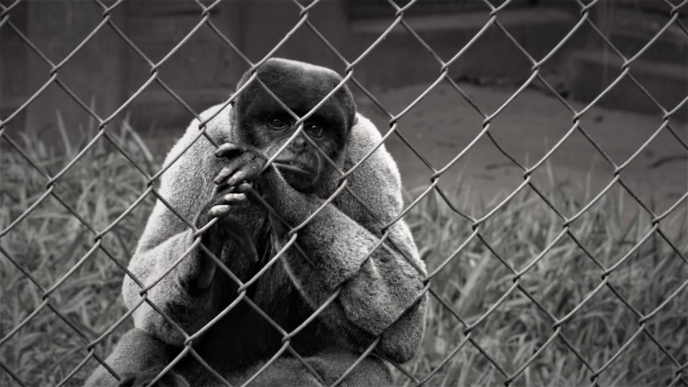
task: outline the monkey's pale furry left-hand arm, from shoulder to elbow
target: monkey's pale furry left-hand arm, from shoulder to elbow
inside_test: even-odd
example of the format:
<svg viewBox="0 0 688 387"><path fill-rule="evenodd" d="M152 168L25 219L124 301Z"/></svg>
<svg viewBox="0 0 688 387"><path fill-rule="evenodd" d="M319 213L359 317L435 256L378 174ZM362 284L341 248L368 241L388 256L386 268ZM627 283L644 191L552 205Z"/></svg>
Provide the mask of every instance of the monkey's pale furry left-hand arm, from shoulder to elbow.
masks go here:
<svg viewBox="0 0 688 387"><path fill-rule="evenodd" d="M202 113L207 117L217 107ZM226 114L217 115L208 123L207 131L221 141L228 125ZM194 121L182 139L172 148L164 165L169 166L162 175L160 196L188 221L193 222L203 210L205 201L211 196L213 173L222 167L213 156L214 147L205 138L198 138L197 122ZM193 145L184 152L187 145ZM180 158L173 160L177 155ZM202 171L202 173L199 173ZM213 289L193 289L193 281L201 271L202 250L193 247L195 238L187 223L158 200L142 234L129 269L144 286L163 276L173 263L188 255L167 274L160 283L152 287L147 298L178 322L186 333L200 329L217 313L218 302L213 299ZM127 307L134 307L141 300L141 288L129 276L125 276L122 295ZM195 291L201 290L201 291ZM216 295L215 295L216 296ZM180 345L183 336L174 329L158 311L144 302L133 314L136 327L156 338L174 345Z"/></svg>

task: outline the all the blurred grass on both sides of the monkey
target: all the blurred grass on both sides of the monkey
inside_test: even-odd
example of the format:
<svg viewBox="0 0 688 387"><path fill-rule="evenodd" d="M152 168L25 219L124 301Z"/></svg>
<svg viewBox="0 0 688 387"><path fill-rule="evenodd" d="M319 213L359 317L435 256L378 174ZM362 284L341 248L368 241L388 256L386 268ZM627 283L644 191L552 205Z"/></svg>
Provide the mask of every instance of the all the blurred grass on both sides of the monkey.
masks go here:
<svg viewBox="0 0 688 387"><path fill-rule="evenodd" d="M93 134L91 131L86 137ZM161 159L153 157L126 124L116 137L137 164L148 173L155 172ZM65 157L54 155L47 144L34 137L23 136L20 143L30 158L52 176L81 148L70 147L68 140L64 141ZM15 152L3 151L1 162L0 228L6 228L43 195L46 181ZM146 188L147 181L142 173L109 146L107 140L101 139L58 180L55 192L96 230L103 230ZM462 187L455 196L464 198L464 192L465 187ZM629 219L627 204L624 207L621 201L609 196L571 225L574 235L606 267L611 267L629 252L650 225L647 217L638 215ZM570 199L574 195L564 186L552 184L548 187L548 197L565 214L581 208ZM103 245L109 252L127 261L152 205L152 198L144 200L106 234ZM475 214L486 212L482 208L464 210ZM685 206L678 211L685 213ZM444 263L472 231L469 221L449 210L436 196L422 201L406 219L430 270ZM522 269L555 239L562 230L561 223L544 207L541 199L525 192L489 219L482 226L481 234L504 261ZM663 221L663 225L665 223ZM672 225L670 229L678 230L671 234L671 241L683 258L654 234L610 276L614 289L641 313L656 309L688 280L685 223ZM1 337L41 307L45 289L72 269L93 247L93 236L52 196L3 236L0 242L3 249L21 263L43 289L28 280L8 256L0 254ZM556 318L562 318L601 283L601 272L574 241L564 236L524 274L521 285ZM120 300L122 276L122 271L106 254L96 251L50 294L50 305L86 338L78 335L51 309L44 308L0 347L0 362L27 386L53 386L61 382L87 356L88 341L98 337L124 313ZM512 287L513 273L484 243L474 240L433 278L432 284L442 299L471 324ZM688 291L684 290L645 325L680 364L688 361L687 305ZM97 353L107 355L118 335L129 327L131 322L126 322L117 329L98 346ZM426 338L416 359L405 364L405 369L418 379L429 375L466 338L464 328L448 309L431 298ZM585 360L599 368L638 328L638 317L608 287L603 287L562 325L561 333ZM471 331L471 338L510 374L525 364L554 332L552 320L546 313L516 289ZM91 360L68 384L83 384L95 365ZM675 371L676 366L669 357L641 333L601 374L599 382L616 386L666 385ZM394 375L398 384L409 384L401 373ZM555 338L515 383L589 385L590 375L592 371L561 339ZM504 384L504 379L504 375L469 342L447 360L429 385L497 386ZM17 383L6 371L0 371L0 384Z"/></svg>

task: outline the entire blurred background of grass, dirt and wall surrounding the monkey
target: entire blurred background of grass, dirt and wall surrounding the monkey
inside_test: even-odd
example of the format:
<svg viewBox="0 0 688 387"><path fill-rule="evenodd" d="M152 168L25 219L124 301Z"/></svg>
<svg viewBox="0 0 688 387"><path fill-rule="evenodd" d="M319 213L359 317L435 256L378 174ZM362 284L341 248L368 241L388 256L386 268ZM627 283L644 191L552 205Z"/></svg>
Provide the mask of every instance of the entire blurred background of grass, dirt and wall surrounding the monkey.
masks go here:
<svg viewBox="0 0 688 387"><path fill-rule="evenodd" d="M460 257L435 279L438 293L469 323L502 305L475 335L483 351L454 352L467 324L433 301L427 343L408 366L418 380L398 375L400 384L434 372L431 385L503 384L511 373L528 385L589 384L591 375L594 383L688 384L685 366L676 371L688 360L685 1L420 0L404 25L396 12L406 0L325 0L308 8L308 22L328 43L308 25L292 31L302 20L292 1L225 0L209 12L211 27L201 22L212 3L0 0L0 384L78 384L88 375L96 361L86 344L125 311L118 265L154 202L149 177L191 111L224 102L250 69L236 49L255 63L277 46L273 56L342 75L347 63L333 49L356 61L361 87L349 87L383 135L403 112L385 146L407 203L420 199L405 219L429 269ZM621 56L633 58L630 71ZM452 82L440 79L438 58L453 59ZM107 120L107 135L93 114ZM532 185L519 189L535 165ZM445 167L439 186L453 207L424 193ZM478 242L475 219L497 209ZM562 230L579 240L558 239ZM568 325L581 352L555 340L524 373L552 334L551 316L512 293L514 272L499 254L517 269L542 259L528 289L558 318L598 295ZM600 291L598 263L620 260L614 289L623 296ZM652 333L636 335L643 313L660 305ZM130 326L98 342L98 353ZM630 355L607 364L627 340Z"/></svg>

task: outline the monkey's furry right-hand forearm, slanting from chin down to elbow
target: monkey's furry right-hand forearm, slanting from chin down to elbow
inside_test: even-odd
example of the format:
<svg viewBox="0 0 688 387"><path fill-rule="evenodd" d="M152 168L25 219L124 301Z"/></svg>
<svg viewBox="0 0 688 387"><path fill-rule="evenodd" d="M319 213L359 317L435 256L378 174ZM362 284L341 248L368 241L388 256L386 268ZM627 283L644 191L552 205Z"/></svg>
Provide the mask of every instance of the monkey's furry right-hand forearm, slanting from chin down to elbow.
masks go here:
<svg viewBox="0 0 688 387"><path fill-rule="evenodd" d="M290 194L276 198L275 208L292 225L321 206L319 199ZM352 335L360 335L361 329L368 339L381 334L378 349L392 360L405 362L416 353L424 334L424 264L405 223L392 225L389 232L389 239L415 265L338 208L327 205L299 230L297 242L308 260L294 248L284 260L314 307L340 287L341 293L325 313L333 313L330 318L340 320L336 324L345 329L351 324ZM278 240L277 247L285 243L286 239ZM353 339L367 344L366 338Z"/></svg>

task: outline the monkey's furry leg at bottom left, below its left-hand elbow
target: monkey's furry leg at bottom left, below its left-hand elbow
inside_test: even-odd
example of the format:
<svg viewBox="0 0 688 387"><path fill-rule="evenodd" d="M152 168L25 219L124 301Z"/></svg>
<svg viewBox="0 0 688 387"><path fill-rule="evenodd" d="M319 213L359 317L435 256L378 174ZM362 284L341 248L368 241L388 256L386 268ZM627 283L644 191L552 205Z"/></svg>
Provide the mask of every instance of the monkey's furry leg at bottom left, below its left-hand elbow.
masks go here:
<svg viewBox="0 0 688 387"><path fill-rule="evenodd" d="M105 360L118 373L119 382L100 365L86 381L85 386L146 386L179 352L179 348L164 344L140 329L131 329L118 340L115 350ZM170 371L156 386L188 387L189 384L184 378Z"/></svg>

